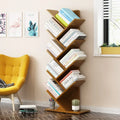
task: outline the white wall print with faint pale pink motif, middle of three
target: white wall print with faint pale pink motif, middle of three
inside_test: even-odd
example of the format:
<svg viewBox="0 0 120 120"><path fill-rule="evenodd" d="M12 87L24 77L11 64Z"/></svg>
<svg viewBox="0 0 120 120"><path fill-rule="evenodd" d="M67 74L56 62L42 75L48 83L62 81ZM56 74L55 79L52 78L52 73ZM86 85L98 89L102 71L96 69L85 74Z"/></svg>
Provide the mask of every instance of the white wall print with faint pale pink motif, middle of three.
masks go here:
<svg viewBox="0 0 120 120"><path fill-rule="evenodd" d="M22 14L13 12L8 14L8 36L21 37L22 36Z"/></svg>

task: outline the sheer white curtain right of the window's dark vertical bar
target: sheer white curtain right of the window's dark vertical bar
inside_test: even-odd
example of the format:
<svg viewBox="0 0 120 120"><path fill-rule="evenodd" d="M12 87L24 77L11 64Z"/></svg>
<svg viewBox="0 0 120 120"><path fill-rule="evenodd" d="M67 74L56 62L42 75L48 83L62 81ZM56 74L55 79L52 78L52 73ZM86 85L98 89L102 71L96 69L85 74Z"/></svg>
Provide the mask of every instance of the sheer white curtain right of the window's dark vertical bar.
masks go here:
<svg viewBox="0 0 120 120"><path fill-rule="evenodd" d="M120 0L110 0L109 41L120 45Z"/></svg>

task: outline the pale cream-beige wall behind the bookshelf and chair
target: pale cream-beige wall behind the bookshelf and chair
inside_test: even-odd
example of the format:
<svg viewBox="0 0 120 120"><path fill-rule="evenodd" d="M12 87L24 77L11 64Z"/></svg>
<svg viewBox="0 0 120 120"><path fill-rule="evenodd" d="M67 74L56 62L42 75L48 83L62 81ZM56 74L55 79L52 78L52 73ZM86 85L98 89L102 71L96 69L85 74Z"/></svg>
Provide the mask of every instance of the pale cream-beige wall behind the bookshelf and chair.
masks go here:
<svg viewBox="0 0 120 120"><path fill-rule="evenodd" d="M81 49L88 55L81 66L81 72L87 76L86 83L81 87L81 101L83 106L118 108L120 107L120 60L119 58L93 57L93 0L0 0L1 10L34 11L40 13L40 37L38 38L0 38L0 53L9 56L30 55L28 78L21 90L24 100L48 101L46 93L46 65L50 56L46 52L46 45L51 36L44 28L44 24L51 16L46 9L67 7L81 11L81 17L86 22L81 26L87 34L86 42Z"/></svg>

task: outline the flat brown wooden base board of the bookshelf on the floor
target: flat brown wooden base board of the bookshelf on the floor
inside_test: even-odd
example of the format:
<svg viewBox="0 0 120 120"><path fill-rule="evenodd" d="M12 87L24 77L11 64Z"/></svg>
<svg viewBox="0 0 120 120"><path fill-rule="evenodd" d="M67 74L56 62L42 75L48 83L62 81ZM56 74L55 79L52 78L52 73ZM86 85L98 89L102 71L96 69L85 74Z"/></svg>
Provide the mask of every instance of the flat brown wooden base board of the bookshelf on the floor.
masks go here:
<svg viewBox="0 0 120 120"><path fill-rule="evenodd" d="M63 111L63 110L59 110L59 109L45 109L45 111L48 112L59 112L59 113L69 113L69 114L83 114L83 113L87 113L90 112L90 110L80 110L80 111Z"/></svg>

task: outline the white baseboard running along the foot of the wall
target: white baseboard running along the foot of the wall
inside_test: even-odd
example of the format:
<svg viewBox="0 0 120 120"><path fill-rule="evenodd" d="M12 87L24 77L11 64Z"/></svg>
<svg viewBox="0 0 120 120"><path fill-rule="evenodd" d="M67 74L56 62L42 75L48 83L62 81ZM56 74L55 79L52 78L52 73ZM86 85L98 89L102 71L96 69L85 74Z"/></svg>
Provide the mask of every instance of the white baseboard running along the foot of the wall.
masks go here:
<svg viewBox="0 0 120 120"><path fill-rule="evenodd" d="M11 103L10 99L3 98L2 102ZM15 104L19 104L18 99L15 99ZM40 101L30 101L24 100L23 104L35 104L41 107L49 107L49 102L40 102ZM56 104L56 106L58 106ZM93 106L81 106L82 109L88 109L92 112L108 113L108 114L120 114L119 108L104 108L104 107L93 107Z"/></svg>

